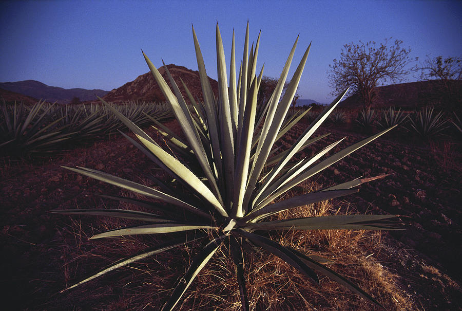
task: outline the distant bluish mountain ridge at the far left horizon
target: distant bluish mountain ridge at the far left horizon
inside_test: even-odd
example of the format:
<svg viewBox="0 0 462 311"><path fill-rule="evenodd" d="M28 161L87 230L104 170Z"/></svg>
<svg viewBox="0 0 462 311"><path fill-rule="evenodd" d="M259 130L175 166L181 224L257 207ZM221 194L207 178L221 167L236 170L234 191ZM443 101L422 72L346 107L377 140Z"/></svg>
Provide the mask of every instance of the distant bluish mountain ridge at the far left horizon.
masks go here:
<svg viewBox="0 0 462 311"><path fill-rule="evenodd" d="M0 88L48 102L58 102L63 104L70 103L74 97L78 97L81 101L97 100L96 95L102 97L109 93L109 91L102 89L66 89L57 86L49 86L35 80L0 82Z"/></svg>

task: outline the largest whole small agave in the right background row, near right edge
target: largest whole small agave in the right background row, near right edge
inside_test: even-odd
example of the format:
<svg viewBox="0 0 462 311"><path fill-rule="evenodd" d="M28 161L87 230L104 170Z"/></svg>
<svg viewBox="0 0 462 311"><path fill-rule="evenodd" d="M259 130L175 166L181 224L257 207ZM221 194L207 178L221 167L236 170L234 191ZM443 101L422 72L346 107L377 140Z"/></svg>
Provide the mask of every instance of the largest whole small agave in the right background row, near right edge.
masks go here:
<svg viewBox="0 0 462 311"><path fill-rule="evenodd" d="M433 107L425 107L411 118L411 128L422 138L438 136L447 129L447 121L442 112L434 113Z"/></svg>

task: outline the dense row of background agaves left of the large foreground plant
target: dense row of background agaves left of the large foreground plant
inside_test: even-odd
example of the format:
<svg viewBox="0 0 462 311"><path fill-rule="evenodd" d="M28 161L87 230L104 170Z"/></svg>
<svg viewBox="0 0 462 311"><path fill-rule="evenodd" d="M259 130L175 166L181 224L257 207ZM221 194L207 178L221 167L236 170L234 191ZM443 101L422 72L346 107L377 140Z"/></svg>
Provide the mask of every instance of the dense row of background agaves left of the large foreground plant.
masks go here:
<svg viewBox="0 0 462 311"><path fill-rule="evenodd" d="M128 102L114 106L140 126L171 117L166 103ZM0 112L0 156L45 156L116 133L125 125L100 104L59 105L44 101L32 106L2 105Z"/></svg>

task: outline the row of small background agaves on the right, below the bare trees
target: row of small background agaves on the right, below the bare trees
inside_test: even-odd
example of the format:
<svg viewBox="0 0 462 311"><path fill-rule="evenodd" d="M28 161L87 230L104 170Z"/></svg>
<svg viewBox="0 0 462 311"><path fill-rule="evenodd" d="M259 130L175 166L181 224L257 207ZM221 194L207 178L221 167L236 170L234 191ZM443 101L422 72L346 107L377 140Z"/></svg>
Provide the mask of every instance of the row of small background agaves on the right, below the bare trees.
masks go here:
<svg viewBox="0 0 462 311"><path fill-rule="evenodd" d="M344 123L347 121L347 114L336 111L330 116L330 121L335 124ZM462 134L462 123L456 113L450 118L443 112L436 113L433 107L424 107L417 112L404 112L394 107L380 109L378 112L374 109L362 109L354 122L365 131L373 126L388 129L390 126L400 125L422 138L443 134L446 130L451 130L451 126L452 132Z"/></svg>

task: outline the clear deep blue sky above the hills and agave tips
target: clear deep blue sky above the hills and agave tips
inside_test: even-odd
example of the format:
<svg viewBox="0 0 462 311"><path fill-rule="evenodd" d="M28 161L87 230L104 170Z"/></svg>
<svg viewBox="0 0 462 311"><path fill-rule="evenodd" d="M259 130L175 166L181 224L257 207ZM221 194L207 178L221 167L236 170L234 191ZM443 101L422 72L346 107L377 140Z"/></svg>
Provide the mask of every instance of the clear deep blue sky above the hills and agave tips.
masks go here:
<svg viewBox="0 0 462 311"><path fill-rule="evenodd" d="M0 2L0 82L38 80L51 86L111 90L156 66L197 70L194 25L207 74L216 79L218 21L229 66L233 28L242 59L262 31L257 70L278 78L300 39L290 75L312 42L300 98L328 103L326 71L345 43L393 37L411 57L462 56L461 1L11 1ZM416 75L414 75L416 76ZM408 77L406 82L416 79Z"/></svg>

